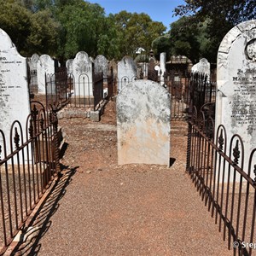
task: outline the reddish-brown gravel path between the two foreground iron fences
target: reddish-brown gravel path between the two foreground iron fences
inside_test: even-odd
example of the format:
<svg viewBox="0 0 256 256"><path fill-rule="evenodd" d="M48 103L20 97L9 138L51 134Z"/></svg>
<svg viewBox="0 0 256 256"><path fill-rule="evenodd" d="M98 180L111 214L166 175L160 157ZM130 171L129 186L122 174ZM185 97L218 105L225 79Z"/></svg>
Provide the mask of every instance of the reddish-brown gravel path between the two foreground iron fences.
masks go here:
<svg viewBox="0 0 256 256"><path fill-rule="evenodd" d="M186 125L170 168L118 166L111 104L100 123L60 120L63 176L13 255L232 255L185 173Z"/></svg>

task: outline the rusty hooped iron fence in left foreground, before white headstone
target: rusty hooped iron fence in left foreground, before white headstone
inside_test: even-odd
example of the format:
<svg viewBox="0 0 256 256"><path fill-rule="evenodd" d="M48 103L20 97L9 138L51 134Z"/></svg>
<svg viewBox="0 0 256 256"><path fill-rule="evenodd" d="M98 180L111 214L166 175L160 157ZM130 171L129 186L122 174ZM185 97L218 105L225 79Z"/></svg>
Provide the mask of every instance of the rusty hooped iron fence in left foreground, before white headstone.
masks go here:
<svg viewBox="0 0 256 256"><path fill-rule="evenodd" d="M9 135L0 130L0 253L60 172L57 108L32 105L24 126L15 121Z"/></svg>

